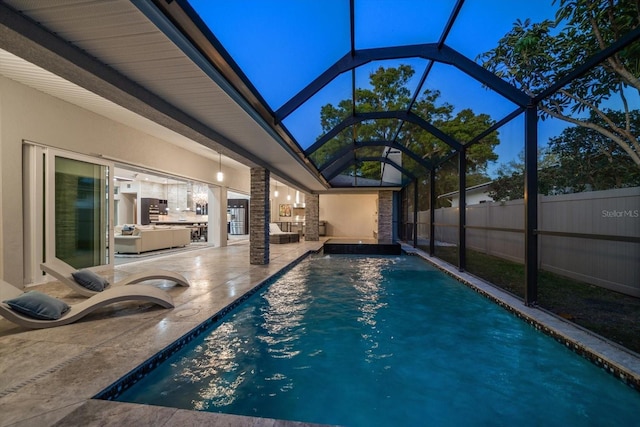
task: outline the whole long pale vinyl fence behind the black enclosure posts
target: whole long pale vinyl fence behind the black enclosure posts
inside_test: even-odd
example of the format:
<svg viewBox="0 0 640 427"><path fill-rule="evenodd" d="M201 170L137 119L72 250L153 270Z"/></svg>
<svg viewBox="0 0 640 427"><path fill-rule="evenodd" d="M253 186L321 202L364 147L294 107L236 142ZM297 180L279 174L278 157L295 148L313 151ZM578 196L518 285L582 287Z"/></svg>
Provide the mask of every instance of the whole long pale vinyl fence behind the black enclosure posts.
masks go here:
<svg viewBox="0 0 640 427"><path fill-rule="evenodd" d="M640 297L640 187L539 196L538 203L540 268ZM466 216L469 249L524 262L524 200L469 205ZM428 239L429 211L418 212L418 223L418 239ZM458 208L437 209L435 223L436 242L457 244ZM592 238L545 234L553 232Z"/></svg>

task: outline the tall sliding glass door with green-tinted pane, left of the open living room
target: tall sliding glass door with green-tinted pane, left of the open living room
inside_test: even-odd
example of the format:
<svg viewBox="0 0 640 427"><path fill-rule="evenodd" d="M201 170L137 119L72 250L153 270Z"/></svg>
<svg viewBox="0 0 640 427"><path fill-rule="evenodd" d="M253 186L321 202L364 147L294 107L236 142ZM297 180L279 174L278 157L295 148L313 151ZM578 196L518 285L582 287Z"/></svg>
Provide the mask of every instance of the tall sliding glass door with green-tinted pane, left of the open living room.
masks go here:
<svg viewBox="0 0 640 427"><path fill-rule="evenodd" d="M25 283L40 281L40 263L75 268L111 263L113 165L34 143L24 145Z"/></svg>

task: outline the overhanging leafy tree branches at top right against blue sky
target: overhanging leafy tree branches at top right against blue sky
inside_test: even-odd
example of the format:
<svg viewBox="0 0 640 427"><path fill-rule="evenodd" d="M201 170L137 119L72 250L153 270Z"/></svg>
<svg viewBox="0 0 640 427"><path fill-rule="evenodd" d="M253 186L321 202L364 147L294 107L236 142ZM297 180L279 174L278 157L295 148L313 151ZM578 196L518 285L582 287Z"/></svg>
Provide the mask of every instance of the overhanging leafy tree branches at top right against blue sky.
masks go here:
<svg viewBox="0 0 640 427"><path fill-rule="evenodd" d="M637 0L559 0L555 22L516 21L498 47L479 56L482 65L533 96L586 58L640 26ZM557 31L559 23L565 26ZM638 129L630 129L628 94L640 95L640 43L636 42L574 79L539 104L540 118L554 117L613 141L640 168ZM604 111L621 105L623 120ZM587 118L580 118L587 112ZM596 119L597 120L594 120Z"/></svg>

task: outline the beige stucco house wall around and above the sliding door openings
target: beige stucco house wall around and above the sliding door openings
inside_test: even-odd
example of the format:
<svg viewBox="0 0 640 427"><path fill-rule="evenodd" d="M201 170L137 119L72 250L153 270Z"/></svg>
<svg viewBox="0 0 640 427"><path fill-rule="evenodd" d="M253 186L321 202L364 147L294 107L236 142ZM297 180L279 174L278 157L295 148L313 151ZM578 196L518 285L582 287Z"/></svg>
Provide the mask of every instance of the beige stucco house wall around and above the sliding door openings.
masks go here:
<svg viewBox="0 0 640 427"><path fill-rule="evenodd" d="M23 280L23 140L217 184L216 161L0 76L0 277L15 284ZM248 169L223 170L227 187L249 191Z"/></svg>

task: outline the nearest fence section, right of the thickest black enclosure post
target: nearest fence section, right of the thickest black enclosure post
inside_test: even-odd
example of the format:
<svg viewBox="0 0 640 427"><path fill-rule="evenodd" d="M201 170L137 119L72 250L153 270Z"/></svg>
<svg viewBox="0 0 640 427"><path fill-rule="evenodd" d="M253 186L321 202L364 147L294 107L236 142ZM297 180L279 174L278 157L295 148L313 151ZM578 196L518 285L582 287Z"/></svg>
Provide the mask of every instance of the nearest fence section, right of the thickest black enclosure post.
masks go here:
<svg viewBox="0 0 640 427"><path fill-rule="evenodd" d="M544 196L540 210L542 269L640 297L640 243L605 240L640 238L640 188Z"/></svg>

